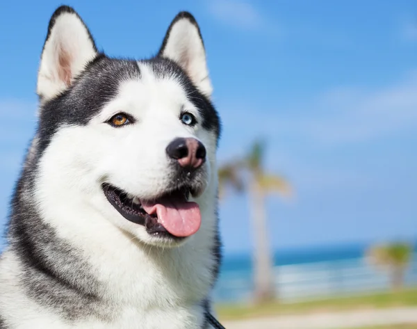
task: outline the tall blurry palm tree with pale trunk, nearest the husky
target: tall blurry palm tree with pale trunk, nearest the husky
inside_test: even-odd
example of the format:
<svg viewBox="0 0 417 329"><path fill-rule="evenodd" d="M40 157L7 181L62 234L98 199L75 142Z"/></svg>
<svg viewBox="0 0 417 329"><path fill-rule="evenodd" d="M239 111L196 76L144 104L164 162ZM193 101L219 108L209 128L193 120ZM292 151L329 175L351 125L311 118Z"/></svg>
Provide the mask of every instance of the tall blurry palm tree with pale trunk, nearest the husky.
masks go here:
<svg viewBox="0 0 417 329"><path fill-rule="evenodd" d="M245 188L250 197L250 216L255 246L253 254L254 297L258 302L270 300L276 296L265 196L274 192L282 195L290 192L290 186L282 177L265 172L264 157L265 145L260 141L255 141L243 159L228 163L219 169L220 195L224 195L225 187L229 185L238 191L243 191Z"/></svg>

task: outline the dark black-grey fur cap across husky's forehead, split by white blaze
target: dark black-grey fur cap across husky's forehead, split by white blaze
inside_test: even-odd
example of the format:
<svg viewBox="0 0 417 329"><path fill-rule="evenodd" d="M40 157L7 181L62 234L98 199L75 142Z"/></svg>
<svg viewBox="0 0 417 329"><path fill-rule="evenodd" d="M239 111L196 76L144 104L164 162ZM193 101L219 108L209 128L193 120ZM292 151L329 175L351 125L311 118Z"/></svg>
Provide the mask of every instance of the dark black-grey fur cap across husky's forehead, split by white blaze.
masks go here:
<svg viewBox="0 0 417 329"><path fill-rule="evenodd" d="M214 131L220 137L220 118L213 104L193 85L177 63L167 58L154 57L144 60L157 78L176 77L183 86L188 99L202 115L204 129ZM72 86L45 102L40 109L40 151L49 144L51 136L61 125L86 125L117 94L120 82L140 79L136 61L108 58L99 54L91 61ZM53 114L51 114L53 113Z"/></svg>

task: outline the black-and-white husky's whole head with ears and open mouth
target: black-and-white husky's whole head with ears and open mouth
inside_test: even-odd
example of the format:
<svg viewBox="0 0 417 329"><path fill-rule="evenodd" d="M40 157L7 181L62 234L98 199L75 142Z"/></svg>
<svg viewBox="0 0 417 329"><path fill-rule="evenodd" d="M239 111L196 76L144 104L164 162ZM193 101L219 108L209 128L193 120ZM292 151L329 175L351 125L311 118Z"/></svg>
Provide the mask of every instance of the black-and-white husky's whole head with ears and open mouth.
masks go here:
<svg viewBox="0 0 417 329"><path fill-rule="evenodd" d="M33 142L46 215L58 204L90 207L156 245L197 232L200 207L217 189L220 122L211 91L189 13L175 17L157 56L130 61L99 53L79 15L58 8L42 51Z"/></svg>

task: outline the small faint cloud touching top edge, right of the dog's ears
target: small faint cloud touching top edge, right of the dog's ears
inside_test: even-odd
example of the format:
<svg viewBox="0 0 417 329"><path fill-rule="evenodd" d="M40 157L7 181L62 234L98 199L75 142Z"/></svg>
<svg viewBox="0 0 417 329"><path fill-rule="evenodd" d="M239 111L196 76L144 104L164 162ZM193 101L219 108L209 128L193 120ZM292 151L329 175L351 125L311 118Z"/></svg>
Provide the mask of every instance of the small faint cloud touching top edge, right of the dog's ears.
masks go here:
<svg viewBox="0 0 417 329"><path fill-rule="evenodd" d="M265 24L261 13L248 1L209 0L207 4L214 17L239 29L254 30Z"/></svg>

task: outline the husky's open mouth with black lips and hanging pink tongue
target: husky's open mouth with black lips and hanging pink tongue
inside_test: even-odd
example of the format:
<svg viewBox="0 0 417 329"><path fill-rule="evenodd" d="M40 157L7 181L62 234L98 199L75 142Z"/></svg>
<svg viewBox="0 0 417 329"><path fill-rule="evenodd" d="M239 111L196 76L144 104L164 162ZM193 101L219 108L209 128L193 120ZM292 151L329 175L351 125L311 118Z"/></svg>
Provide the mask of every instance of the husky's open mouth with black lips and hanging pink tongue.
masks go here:
<svg viewBox="0 0 417 329"><path fill-rule="evenodd" d="M111 184L103 184L108 202L127 220L142 225L153 236L182 239L199 229L202 216L199 206L189 202L189 188L180 188L155 200L129 198Z"/></svg>

